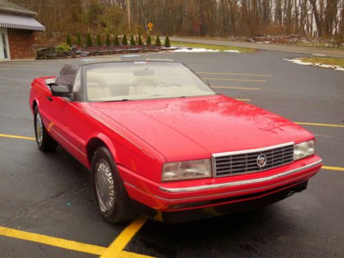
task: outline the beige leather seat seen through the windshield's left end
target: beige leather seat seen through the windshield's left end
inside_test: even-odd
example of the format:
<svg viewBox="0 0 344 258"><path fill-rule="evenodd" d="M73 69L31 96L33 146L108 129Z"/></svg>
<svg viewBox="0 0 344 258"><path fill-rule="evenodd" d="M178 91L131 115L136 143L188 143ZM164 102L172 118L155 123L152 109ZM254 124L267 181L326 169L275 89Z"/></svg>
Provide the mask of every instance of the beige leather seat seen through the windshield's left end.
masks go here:
<svg viewBox="0 0 344 258"><path fill-rule="evenodd" d="M87 93L89 100L111 97L111 91L106 86L105 79L101 75L91 72L87 76Z"/></svg>

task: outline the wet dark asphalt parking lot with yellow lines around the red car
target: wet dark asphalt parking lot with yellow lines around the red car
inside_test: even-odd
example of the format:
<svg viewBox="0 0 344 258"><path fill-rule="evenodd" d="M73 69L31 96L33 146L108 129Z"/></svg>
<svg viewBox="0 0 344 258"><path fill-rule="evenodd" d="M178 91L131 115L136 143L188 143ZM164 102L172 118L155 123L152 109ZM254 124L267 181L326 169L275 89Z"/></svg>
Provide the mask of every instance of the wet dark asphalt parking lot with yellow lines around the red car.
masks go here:
<svg viewBox="0 0 344 258"><path fill-rule="evenodd" d="M97 212L88 171L62 148L37 150L30 82L77 59L0 63L0 256L344 257L344 72L283 60L302 56L116 56L181 61L216 92L276 112L316 137L324 167L307 190L261 210L186 224L143 217L109 224Z"/></svg>

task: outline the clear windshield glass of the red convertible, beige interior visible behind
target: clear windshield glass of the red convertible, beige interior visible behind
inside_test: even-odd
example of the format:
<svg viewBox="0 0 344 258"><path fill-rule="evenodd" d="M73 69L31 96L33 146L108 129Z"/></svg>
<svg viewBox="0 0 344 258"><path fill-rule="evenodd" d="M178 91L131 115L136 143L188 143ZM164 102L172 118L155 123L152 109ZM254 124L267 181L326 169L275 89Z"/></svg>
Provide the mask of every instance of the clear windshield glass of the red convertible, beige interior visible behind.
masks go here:
<svg viewBox="0 0 344 258"><path fill-rule="evenodd" d="M89 101L125 101L215 95L181 63L117 62L85 66Z"/></svg>

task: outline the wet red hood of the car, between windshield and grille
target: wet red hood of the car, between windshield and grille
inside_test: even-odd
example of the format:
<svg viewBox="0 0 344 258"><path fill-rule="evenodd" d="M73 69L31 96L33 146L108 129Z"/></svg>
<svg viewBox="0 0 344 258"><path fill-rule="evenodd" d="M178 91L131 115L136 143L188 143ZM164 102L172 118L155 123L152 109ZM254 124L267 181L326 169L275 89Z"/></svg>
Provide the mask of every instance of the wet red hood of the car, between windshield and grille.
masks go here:
<svg viewBox="0 0 344 258"><path fill-rule="evenodd" d="M222 95L91 103L168 161L209 158L313 136L279 115Z"/></svg>

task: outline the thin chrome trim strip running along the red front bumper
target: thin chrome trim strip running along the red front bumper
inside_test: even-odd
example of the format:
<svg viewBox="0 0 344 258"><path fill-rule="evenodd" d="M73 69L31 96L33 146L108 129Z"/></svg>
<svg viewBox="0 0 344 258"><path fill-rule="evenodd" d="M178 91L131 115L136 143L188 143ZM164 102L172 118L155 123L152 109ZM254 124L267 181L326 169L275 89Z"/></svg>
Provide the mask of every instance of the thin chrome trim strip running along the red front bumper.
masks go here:
<svg viewBox="0 0 344 258"><path fill-rule="evenodd" d="M207 186L191 186L191 187L185 187L185 188L165 188L165 187L160 186L159 189L163 192L177 193L177 192L193 192L193 191L199 191L199 190L211 190L211 189L217 189L217 188L224 188L224 187L228 187L228 186L242 186L242 185L250 184L250 183L261 183L261 182L265 182L265 181L278 179L280 177L285 177L287 175L292 175L294 173L300 172L302 170L306 170L308 168L314 168L315 166L320 165L322 162L323 162L323 160L320 159L314 163L310 163L310 164L303 166L301 168L294 168L292 170L288 170L286 172L281 172L277 175L272 175L270 177L261 177L261 178L256 178L256 179L234 181L234 182L229 182L229 183L217 183L217 184L207 185Z"/></svg>

